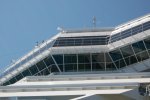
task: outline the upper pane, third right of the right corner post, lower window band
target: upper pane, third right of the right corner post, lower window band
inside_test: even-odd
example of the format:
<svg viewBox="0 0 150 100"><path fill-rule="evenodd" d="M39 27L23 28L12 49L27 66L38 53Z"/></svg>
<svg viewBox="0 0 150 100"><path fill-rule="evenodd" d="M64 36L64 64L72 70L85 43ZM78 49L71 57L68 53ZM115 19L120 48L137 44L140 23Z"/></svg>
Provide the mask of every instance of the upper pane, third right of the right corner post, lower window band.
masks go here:
<svg viewBox="0 0 150 100"><path fill-rule="evenodd" d="M143 41L139 41L137 43L133 43L132 46L133 46L133 49L134 49L135 53L144 51L146 49L144 44L143 44Z"/></svg>

